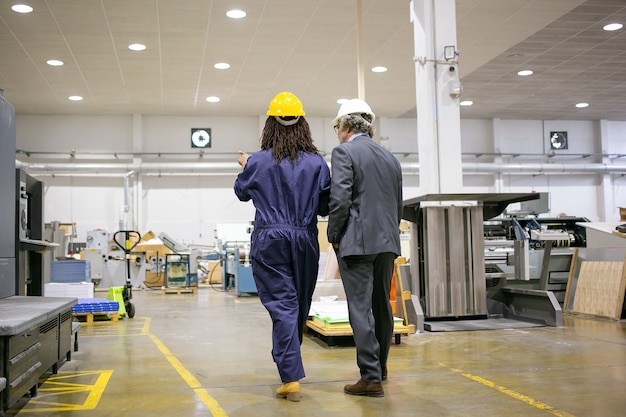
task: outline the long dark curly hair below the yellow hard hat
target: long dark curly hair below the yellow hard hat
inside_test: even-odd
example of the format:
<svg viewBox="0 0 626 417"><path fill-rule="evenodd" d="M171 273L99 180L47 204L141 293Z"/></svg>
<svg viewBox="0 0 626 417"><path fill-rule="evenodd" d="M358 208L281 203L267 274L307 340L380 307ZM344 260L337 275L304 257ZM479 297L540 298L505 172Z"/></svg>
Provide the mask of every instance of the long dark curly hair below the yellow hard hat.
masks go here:
<svg viewBox="0 0 626 417"><path fill-rule="evenodd" d="M304 117L291 126L283 126L274 116L269 116L261 134L261 149L271 149L277 163L285 158L296 162L299 152L319 153Z"/></svg>

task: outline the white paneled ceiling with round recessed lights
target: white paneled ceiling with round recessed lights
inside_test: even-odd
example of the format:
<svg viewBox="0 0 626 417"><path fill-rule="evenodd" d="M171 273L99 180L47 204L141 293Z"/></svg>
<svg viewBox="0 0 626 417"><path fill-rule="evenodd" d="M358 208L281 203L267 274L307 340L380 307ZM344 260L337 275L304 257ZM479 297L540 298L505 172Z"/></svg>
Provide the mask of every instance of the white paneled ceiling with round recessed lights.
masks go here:
<svg viewBox="0 0 626 417"><path fill-rule="evenodd" d="M308 116L332 117L358 95L356 0L22 1L30 14L17 2L0 0L0 88L18 114L258 116L287 90ZM233 7L247 17L227 18ZM626 0L456 9L462 98L475 103L463 118L626 120L626 30L602 30L626 23ZM409 0L362 0L362 11L365 98L379 116L415 117Z"/></svg>

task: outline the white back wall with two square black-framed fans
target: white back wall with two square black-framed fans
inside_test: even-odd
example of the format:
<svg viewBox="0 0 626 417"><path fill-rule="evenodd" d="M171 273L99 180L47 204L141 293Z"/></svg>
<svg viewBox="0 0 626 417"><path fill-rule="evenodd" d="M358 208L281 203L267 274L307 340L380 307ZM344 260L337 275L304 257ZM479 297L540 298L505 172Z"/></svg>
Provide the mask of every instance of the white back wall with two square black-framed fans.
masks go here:
<svg viewBox="0 0 626 417"><path fill-rule="evenodd" d="M329 154L337 145L330 119L307 119L316 145ZM265 116L247 118L157 116L22 116L16 118L17 148L35 152L33 163L125 163L142 161L220 161L237 159L237 152L258 149ZM415 119L381 118L377 139L382 139L401 162L416 161ZM605 129L601 129L604 123ZM200 158L189 144L190 128L210 127L213 143ZM569 149L550 156L549 132L569 133ZM604 135L604 137L602 137ZM462 120L464 162L626 164L625 158L600 154L626 154L626 122ZM70 156L75 150L76 157ZM40 154L47 152L48 154ZM450 150L456 152L456 150ZM113 154L126 154L115 159ZM158 154L162 154L161 157ZM497 154L497 155L496 155ZM583 154L589 156L583 157ZM514 156L515 155L515 156ZM102 172L39 176L46 184L45 221L76 222L79 240L86 231L118 230L124 205L124 173ZM242 203L232 191L236 173L225 175L141 175L133 177L131 220L141 232L166 232L186 242L212 241L215 224L242 227L254 217L251 202ZM404 176L406 199L421 195L419 176ZM618 221L618 206L626 206L626 179L621 174L593 172L562 174L470 174L463 178L464 192L549 192L551 213L588 217L592 221ZM607 207L607 215L603 207ZM609 217L609 218L607 218ZM128 218L128 217L126 217Z"/></svg>

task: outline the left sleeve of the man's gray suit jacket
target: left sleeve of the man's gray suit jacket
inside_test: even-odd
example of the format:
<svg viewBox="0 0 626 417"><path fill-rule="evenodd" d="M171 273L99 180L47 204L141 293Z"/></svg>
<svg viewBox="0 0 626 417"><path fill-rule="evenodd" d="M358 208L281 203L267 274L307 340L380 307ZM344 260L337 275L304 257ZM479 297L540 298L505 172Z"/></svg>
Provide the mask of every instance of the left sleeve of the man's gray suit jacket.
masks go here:
<svg viewBox="0 0 626 417"><path fill-rule="evenodd" d="M333 149L331 168L327 235L330 243L339 243L350 218L352 188L354 186L352 159L346 151L346 146L339 145Z"/></svg>

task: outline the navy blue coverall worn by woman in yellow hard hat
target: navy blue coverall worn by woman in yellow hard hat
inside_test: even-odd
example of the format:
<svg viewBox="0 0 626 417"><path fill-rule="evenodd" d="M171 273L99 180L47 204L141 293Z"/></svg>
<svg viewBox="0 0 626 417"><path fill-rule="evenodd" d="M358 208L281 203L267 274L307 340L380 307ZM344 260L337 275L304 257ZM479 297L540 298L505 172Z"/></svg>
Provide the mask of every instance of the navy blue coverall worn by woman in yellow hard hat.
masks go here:
<svg viewBox="0 0 626 417"><path fill-rule="evenodd" d="M330 170L319 154L276 163L272 151L248 158L235 180L241 201L252 199L252 275L272 319L272 357L282 382L304 378L300 344L317 281L317 215L328 215Z"/></svg>

